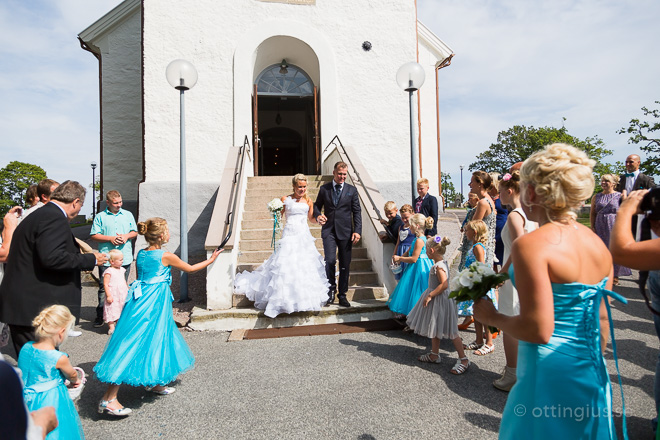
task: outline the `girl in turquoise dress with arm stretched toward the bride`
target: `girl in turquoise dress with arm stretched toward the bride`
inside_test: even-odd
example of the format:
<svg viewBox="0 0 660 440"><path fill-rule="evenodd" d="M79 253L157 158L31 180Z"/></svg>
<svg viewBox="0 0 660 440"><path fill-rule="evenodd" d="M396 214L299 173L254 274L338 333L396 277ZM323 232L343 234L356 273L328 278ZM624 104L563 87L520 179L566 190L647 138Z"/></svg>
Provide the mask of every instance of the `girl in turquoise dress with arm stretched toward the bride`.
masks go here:
<svg viewBox="0 0 660 440"><path fill-rule="evenodd" d="M216 250L208 260L190 265L161 249L170 238L164 219L150 218L137 227L149 247L138 252L137 280L131 283L115 332L94 367L96 377L109 384L98 412L113 416L131 413L117 401L120 384L144 386L160 395L172 394L175 389L166 385L193 367L195 358L172 316L171 268L196 272L213 263L222 252Z"/></svg>

